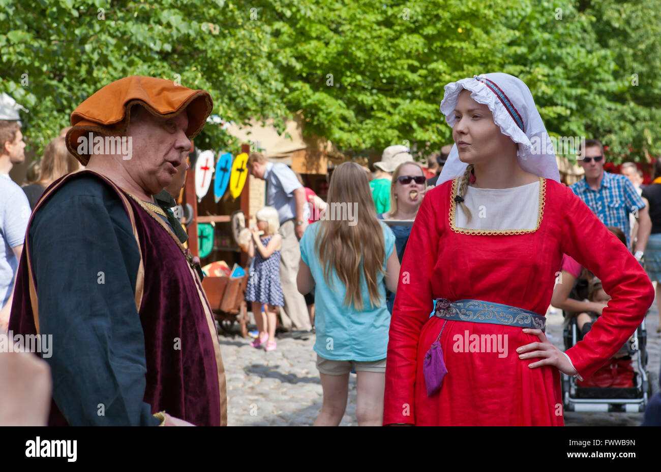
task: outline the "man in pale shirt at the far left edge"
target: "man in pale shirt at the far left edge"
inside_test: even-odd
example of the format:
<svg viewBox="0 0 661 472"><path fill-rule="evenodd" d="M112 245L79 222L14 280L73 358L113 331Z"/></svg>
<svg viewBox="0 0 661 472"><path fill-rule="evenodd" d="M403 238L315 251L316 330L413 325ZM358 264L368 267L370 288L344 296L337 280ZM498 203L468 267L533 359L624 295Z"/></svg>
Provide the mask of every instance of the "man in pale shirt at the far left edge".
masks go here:
<svg viewBox="0 0 661 472"><path fill-rule="evenodd" d="M30 219L28 197L9 178L14 164L25 160L24 149L19 122L0 120L0 334L7 331L14 279Z"/></svg>

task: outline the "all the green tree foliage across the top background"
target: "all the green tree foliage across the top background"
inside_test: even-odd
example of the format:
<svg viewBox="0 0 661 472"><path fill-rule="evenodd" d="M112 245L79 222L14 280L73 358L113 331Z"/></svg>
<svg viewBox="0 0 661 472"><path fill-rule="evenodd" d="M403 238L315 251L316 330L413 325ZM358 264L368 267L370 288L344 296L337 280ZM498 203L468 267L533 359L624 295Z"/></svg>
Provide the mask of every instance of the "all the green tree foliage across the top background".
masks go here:
<svg viewBox="0 0 661 472"><path fill-rule="evenodd" d="M77 104L127 75L204 88L214 114L300 114L349 155L451 142L444 85L503 71L551 135L661 153L657 0L0 0L0 91L30 110L38 149ZM208 125L198 147L237 150ZM629 151L631 146L631 151Z"/></svg>

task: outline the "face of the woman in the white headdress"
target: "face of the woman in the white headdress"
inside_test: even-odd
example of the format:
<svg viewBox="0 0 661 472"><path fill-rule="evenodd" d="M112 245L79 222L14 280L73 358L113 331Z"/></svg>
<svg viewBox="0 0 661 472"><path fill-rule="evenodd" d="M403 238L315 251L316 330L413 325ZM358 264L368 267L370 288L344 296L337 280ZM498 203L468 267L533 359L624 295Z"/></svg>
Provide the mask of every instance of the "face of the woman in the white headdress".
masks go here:
<svg viewBox="0 0 661 472"><path fill-rule="evenodd" d="M494 123L488 106L473 100L469 90L462 90L459 94L452 138L459 151L459 160L467 164L481 164L517 149L516 143Z"/></svg>

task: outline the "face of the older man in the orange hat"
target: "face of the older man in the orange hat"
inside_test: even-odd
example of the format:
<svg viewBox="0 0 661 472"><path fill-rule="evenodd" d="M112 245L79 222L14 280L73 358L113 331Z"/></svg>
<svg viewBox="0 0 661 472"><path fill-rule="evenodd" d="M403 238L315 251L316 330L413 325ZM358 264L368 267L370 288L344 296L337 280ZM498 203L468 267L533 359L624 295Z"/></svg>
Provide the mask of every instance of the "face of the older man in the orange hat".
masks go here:
<svg viewBox="0 0 661 472"><path fill-rule="evenodd" d="M155 195L172 184L190 151L188 116L182 112L174 118L160 118L141 107L135 110L138 116L127 130L133 140L132 158L122 163L145 193Z"/></svg>

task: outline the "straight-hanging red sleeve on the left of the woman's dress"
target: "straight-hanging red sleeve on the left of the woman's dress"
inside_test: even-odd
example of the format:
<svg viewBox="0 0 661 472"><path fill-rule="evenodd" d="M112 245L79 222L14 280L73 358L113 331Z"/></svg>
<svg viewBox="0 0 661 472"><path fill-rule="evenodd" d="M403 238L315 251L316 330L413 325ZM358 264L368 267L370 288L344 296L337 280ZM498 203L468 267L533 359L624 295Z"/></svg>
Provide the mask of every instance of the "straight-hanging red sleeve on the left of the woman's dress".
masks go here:
<svg viewBox="0 0 661 472"><path fill-rule="evenodd" d="M385 364L383 424L414 422L418 337L432 312L432 270L440 240L438 209L432 205L438 191L444 189L433 189L422 200L399 272Z"/></svg>

